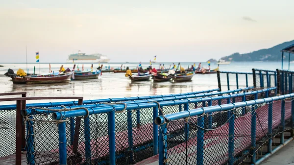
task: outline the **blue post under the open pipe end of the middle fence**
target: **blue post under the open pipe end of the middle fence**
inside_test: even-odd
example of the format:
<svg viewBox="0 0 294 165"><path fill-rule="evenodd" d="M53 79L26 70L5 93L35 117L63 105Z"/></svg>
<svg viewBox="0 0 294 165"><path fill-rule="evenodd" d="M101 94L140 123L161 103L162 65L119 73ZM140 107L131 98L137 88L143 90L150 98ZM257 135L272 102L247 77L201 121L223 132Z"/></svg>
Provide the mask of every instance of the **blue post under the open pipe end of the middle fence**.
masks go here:
<svg viewBox="0 0 294 165"><path fill-rule="evenodd" d="M66 128L65 122L58 124L58 135L59 135L59 164L67 164L67 152L66 152Z"/></svg>

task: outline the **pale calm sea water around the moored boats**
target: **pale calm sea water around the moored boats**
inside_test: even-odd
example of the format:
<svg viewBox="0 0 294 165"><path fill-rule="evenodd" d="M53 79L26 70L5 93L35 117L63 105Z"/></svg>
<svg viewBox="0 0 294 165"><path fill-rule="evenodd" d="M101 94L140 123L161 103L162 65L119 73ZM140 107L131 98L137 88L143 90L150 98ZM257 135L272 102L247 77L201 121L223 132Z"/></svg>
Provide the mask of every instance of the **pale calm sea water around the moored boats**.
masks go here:
<svg viewBox="0 0 294 165"><path fill-rule="evenodd" d="M165 63L166 68L169 68L172 63ZM202 63L205 68L208 67L207 63ZM192 81L182 83L162 82L153 83L151 81L131 83L130 80L125 78L124 73L103 73L98 79L84 80L84 81L71 81L64 84L49 84L49 85L16 85L10 81L9 77L3 74L12 69L15 72L21 68L26 70L26 64L0 64L0 93L10 92L27 92L28 96L84 96L84 99L98 99L98 98L112 98L112 97L130 97L130 96L143 96L143 95L157 95L157 94L176 94L187 93L200 90L218 88L217 74L196 74ZM51 64L52 71L58 71L59 67L64 65L66 68L73 68L73 64ZM103 68L120 68L120 63L103 64ZM136 68L138 63L124 63L123 68L129 67L130 69ZM147 68L149 63L143 63L143 68ZM177 63L176 63L177 65ZM181 66L188 68L193 63L181 63ZM198 63L196 63L196 66ZM34 66L36 73L48 73L49 64L27 64L28 72L32 73ZM152 64L153 67L158 68L159 64ZM82 64L78 64L81 69ZM91 64L84 64L85 70L90 70ZM94 64L97 68L98 64ZM217 68L217 65L211 64L211 69ZM230 65L221 65L220 71L242 71L251 72L252 68L275 70L281 68L280 62L244 62L244 63L231 63ZM288 68L288 65L287 65ZM232 75L232 79L234 76ZM245 85L245 76L239 77L240 86ZM252 79L249 77L249 79ZM221 79L225 82L225 78ZM234 83L232 83L234 85ZM249 86L252 81L249 81ZM223 88L226 89L226 88ZM56 101L56 100L49 100ZM59 100L60 101L60 100ZM44 102L44 101L35 101ZM7 104L6 102L0 102Z"/></svg>

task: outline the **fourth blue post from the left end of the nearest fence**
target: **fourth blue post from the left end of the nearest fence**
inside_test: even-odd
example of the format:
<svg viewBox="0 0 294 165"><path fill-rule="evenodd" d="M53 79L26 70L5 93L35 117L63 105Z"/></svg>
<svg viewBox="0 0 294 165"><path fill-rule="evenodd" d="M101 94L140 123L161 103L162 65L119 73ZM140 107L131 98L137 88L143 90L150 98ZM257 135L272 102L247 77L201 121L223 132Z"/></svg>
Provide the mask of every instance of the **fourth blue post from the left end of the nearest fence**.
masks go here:
<svg viewBox="0 0 294 165"><path fill-rule="evenodd" d="M254 94L255 98L258 98L257 93ZM254 105L251 109L251 163L255 164L256 162L256 153L255 153L255 147L256 147L256 108L257 105Z"/></svg>

